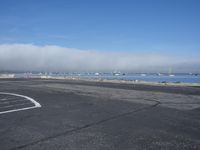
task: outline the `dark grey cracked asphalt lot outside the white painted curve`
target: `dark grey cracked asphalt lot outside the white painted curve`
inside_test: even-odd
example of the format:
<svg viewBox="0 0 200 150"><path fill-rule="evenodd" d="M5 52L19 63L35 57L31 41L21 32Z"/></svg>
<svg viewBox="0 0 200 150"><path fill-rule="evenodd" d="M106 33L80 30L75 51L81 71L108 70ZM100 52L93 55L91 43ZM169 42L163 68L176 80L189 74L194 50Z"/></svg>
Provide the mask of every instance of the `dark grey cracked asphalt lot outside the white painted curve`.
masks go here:
<svg viewBox="0 0 200 150"><path fill-rule="evenodd" d="M0 115L1 150L200 149L200 88L2 79L42 107Z"/></svg>

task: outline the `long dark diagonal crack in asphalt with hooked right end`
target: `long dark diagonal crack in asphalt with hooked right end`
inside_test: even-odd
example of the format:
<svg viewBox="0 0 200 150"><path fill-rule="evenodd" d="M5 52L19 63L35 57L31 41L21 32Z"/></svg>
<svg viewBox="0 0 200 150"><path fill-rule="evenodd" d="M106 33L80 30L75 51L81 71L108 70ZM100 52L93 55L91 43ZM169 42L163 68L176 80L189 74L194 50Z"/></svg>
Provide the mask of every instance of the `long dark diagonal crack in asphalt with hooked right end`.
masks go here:
<svg viewBox="0 0 200 150"><path fill-rule="evenodd" d="M156 107L156 106L158 106L160 104L160 102L157 101L157 100L149 100L149 101L153 101L153 102L155 102L155 104L153 104L151 106L139 108L139 109L136 109L134 111L130 111L130 112L126 112L126 113L122 113L122 114L116 115L116 116L112 116L112 117L109 117L109 118L106 118L106 119L103 119L103 120L100 120L100 121L97 121L97 122L86 124L84 126L81 126L81 127L69 130L69 131L65 131L65 132L62 132L62 133L54 134L52 136L45 137L43 139L34 141L32 143L28 143L28 144L24 144L24 145L20 145L20 146L14 147L11 150L23 149L23 148L26 148L26 147L29 147L29 146L33 146L35 144L38 144L38 143L41 143L41 142L45 142L47 140L51 140L51 139L54 139L54 138L57 138L57 137L60 137L60 136L66 136L66 135L69 135L69 134L73 134L73 133L76 133L76 132L81 131L83 129L86 129L86 128L89 128L89 127L92 127L92 126L95 126L95 125L99 125L101 123L105 123L107 121L115 120L115 119L118 119L118 118L121 118L121 117L124 117L124 116L128 116L128 115L130 115L132 113L137 113L137 112L140 112L140 111L145 111L145 110L154 108L154 107Z"/></svg>

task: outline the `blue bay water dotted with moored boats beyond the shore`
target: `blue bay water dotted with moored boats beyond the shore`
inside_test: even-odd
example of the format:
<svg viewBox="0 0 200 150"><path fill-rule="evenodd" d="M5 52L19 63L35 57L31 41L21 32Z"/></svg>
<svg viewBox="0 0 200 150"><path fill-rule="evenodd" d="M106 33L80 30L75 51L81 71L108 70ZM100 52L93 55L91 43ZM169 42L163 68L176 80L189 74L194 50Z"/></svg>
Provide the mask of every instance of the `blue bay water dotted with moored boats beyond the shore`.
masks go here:
<svg viewBox="0 0 200 150"><path fill-rule="evenodd" d="M29 78L39 76L51 77L75 77L80 79L106 79L106 80L125 80L125 81L147 81L147 82L172 82L172 83L200 83L200 75L175 74L157 75L157 74L119 74L112 73L45 73L45 74L15 74L15 77Z"/></svg>

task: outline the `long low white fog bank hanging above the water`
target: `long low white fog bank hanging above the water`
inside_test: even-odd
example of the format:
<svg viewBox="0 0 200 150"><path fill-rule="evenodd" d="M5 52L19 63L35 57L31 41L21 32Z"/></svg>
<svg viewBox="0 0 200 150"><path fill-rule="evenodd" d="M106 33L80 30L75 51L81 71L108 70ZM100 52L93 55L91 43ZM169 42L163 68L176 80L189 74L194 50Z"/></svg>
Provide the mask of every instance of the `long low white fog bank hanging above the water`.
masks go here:
<svg viewBox="0 0 200 150"><path fill-rule="evenodd" d="M200 59L175 56L100 52L54 45L0 45L0 70L199 72Z"/></svg>

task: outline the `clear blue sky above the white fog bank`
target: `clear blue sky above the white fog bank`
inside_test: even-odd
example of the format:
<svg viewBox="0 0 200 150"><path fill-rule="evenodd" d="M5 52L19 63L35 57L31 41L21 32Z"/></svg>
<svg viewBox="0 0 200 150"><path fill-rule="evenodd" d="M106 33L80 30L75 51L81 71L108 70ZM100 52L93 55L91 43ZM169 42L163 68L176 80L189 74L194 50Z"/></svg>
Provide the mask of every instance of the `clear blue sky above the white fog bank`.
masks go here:
<svg viewBox="0 0 200 150"><path fill-rule="evenodd" d="M199 0L1 0L0 44L200 56Z"/></svg>

